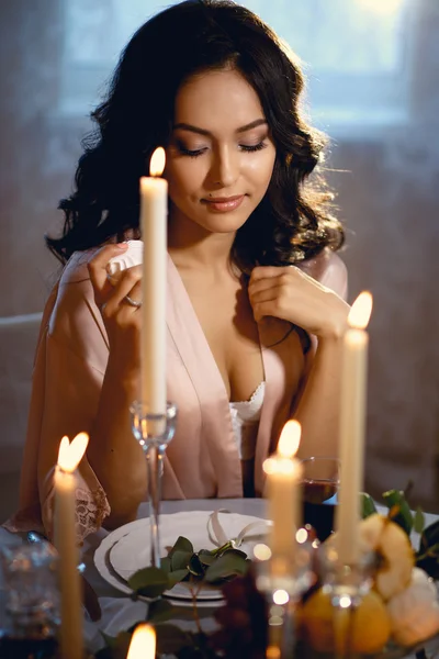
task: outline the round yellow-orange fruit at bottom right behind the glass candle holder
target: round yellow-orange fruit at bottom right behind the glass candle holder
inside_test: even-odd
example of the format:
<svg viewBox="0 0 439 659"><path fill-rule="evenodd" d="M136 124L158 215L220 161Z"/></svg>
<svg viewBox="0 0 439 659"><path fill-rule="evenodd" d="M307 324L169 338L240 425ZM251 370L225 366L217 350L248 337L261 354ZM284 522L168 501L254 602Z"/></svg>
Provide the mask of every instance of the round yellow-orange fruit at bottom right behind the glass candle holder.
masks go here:
<svg viewBox="0 0 439 659"><path fill-rule="evenodd" d="M305 638L318 652L346 649L351 652L379 652L391 635L391 622L384 602L375 592L363 595L354 610L331 605L326 589L316 591L300 616Z"/></svg>

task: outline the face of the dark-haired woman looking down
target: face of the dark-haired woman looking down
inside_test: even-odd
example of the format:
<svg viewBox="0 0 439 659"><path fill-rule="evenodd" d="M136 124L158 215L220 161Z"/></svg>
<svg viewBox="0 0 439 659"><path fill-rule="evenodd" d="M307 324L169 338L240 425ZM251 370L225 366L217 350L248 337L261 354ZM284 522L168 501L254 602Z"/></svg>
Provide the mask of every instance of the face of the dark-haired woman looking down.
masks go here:
<svg viewBox="0 0 439 659"><path fill-rule="evenodd" d="M171 224L236 232L262 200L275 148L258 94L236 70L209 71L176 99L167 149Z"/></svg>

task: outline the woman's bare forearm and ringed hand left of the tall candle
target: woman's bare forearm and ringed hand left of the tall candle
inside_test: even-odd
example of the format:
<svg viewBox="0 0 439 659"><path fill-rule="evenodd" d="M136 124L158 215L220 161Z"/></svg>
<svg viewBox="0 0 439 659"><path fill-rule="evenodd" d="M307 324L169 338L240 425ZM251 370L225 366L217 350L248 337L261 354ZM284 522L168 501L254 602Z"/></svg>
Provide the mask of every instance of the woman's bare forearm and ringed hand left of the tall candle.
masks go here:
<svg viewBox="0 0 439 659"><path fill-rule="evenodd" d="M108 278L110 259L126 249L124 244L105 245L89 263L110 354L87 456L111 507L108 528L135 520L147 482L146 460L130 417L130 405L138 399L142 313L126 301L126 295L140 301L142 268L123 270L112 282Z"/></svg>

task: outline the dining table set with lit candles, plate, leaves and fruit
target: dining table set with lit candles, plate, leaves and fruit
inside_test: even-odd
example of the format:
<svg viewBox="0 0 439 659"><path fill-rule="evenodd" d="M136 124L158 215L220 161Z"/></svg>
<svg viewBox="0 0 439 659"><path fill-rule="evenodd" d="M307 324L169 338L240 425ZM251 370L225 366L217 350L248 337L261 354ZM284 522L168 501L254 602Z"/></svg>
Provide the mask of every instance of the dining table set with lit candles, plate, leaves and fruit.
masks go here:
<svg viewBox="0 0 439 659"><path fill-rule="evenodd" d="M137 520L79 546L76 471L89 437L59 438L53 541L0 528L0 658L439 657L439 515L416 507L409 488L389 483L380 502L364 492L369 292L344 337L338 456L297 457L292 418L263 462L263 498L161 500L178 425L166 395L164 156L140 181L148 253L131 423L147 501Z"/></svg>

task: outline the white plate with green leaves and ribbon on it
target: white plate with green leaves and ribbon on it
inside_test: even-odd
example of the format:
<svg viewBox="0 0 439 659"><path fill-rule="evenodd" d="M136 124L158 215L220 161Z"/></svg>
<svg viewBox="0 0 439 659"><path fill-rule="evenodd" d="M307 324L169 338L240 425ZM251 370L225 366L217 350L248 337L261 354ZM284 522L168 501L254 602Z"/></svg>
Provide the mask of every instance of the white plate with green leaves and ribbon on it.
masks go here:
<svg viewBox="0 0 439 659"><path fill-rule="evenodd" d="M209 538L207 521L211 512L191 511L181 512L160 517L160 546L162 556L167 555L167 547L171 547L179 536L191 540L194 550L213 549L215 545ZM260 523L258 532L264 529L264 521L249 515L237 513L219 513L219 522L227 538L236 537L239 532L250 523ZM240 549L249 557L252 556L252 547L260 541L260 536L243 543ZM103 539L94 552L94 563L100 574L112 585L125 593L131 593L127 584L130 577L149 565L149 520L137 520L117 528ZM166 592L166 596L173 600L175 604L185 603L192 600L188 587L178 583L173 589ZM223 600L218 589L203 588L198 595L200 602L205 605L214 605Z"/></svg>

